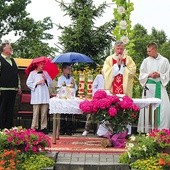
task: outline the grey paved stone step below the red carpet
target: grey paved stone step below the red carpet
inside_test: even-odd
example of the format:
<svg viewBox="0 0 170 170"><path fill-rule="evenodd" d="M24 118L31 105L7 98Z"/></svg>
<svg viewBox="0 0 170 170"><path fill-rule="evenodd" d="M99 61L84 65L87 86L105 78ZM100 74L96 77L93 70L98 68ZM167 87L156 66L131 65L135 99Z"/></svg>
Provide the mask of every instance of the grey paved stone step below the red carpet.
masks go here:
<svg viewBox="0 0 170 170"><path fill-rule="evenodd" d="M120 154L59 152L54 170L129 170L118 163Z"/></svg>

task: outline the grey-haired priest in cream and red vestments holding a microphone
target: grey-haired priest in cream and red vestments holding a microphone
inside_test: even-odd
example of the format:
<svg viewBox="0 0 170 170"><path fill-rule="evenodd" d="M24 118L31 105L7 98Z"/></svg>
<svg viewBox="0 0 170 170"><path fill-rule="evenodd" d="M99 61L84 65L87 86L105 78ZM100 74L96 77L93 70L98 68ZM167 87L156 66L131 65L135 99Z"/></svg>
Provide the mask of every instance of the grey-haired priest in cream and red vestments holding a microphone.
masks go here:
<svg viewBox="0 0 170 170"><path fill-rule="evenodd" d="M115 43L114 54L106 58L102 71L105 79L105 90L110 90L113 94L125 94L132 97L136 64L126 54L123 42Z"/></svg>

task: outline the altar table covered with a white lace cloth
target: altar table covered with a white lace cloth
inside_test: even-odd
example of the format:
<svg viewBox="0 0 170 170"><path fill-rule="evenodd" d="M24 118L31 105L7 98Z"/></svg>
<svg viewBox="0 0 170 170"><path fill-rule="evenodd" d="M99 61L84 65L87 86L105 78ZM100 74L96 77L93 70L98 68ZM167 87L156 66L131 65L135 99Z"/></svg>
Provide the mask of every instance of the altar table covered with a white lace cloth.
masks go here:
<svg viewBox="0 0 170 170"><path fill-rule="evenodd" d="M59 128L60 128L60 114L83 114L79 108L80 102L83 99L60 99L58 97L52 97L49 102L49 114L53 114L53 140L55 144L56 140L59 139ZM149 122L144 126L150 129L157 128L157 114L156 108L160 105L161 100L158 98L145 98L145 99L133 99L134 103L140 108L149 108ZM144 118L146 115L144 115Z"/></svg>

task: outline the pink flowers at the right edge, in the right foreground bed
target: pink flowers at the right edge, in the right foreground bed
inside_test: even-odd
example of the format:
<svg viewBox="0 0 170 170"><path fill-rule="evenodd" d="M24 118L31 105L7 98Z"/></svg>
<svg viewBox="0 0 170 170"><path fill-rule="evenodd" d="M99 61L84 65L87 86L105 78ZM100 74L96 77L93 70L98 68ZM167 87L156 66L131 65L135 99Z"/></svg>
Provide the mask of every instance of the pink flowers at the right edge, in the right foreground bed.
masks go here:
<svg viewBox="0 0 170 170"><path fill-rule="evenodd" d="M155 129L149 133L149 137L154 138L155 142L161 147L170 147L170 130L169 129Z"/></svg>

